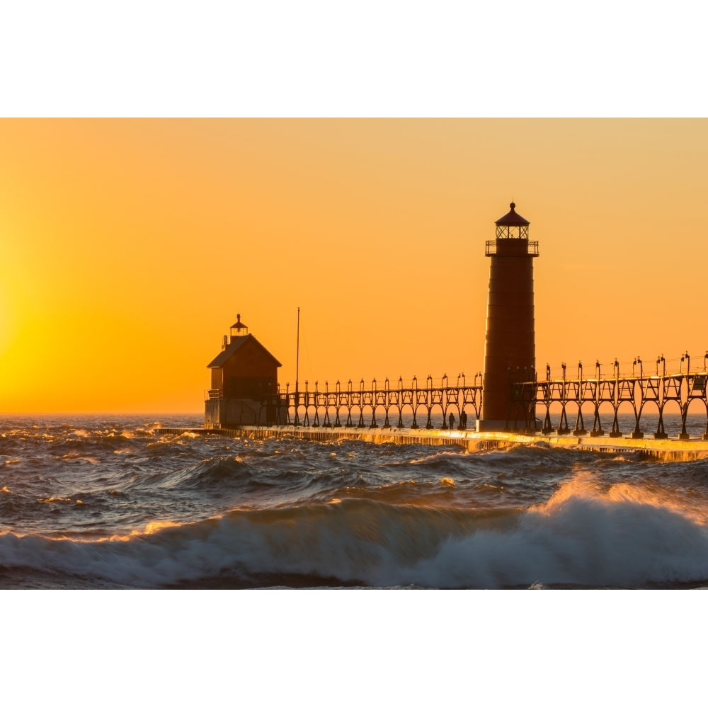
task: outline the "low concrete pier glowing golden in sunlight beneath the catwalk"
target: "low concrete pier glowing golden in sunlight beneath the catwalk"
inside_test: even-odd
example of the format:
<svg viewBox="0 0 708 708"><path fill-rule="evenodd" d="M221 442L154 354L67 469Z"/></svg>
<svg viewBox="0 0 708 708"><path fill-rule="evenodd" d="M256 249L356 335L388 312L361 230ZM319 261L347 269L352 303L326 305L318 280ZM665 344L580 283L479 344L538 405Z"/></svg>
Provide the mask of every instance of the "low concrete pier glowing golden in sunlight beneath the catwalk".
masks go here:
<svg viewBox="0 0 708 708"><path fill-rule="evenodd" d="M515 445L545 445L567 450L638 453L665 460L691 460L708 457L708 440L675 438L593 438L590 435L523 435L520 433L476 432L474 430L411 430L397 428L314 428L305 426L240 426L222 430L205 428L155 428L159 435L222 435L228 438L299 438L302 440L362 440L394 445L452 445L464 450L494 450Z"/></svg>

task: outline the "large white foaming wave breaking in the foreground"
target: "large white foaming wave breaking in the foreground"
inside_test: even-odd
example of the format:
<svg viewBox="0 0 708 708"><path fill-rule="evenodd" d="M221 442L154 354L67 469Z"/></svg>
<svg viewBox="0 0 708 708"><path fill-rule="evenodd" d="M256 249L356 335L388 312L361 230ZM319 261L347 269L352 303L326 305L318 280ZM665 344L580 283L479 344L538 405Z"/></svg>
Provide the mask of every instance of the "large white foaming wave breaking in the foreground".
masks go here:
<svg viewBox="0 0 708 708"><path fill-rule="evenodd" d="M236 467L235 469L238 469ZM233 510L87 541L0 536L32 586L661 587L708 581L708 510L590 472L527 510L338 499Z"/></svg>

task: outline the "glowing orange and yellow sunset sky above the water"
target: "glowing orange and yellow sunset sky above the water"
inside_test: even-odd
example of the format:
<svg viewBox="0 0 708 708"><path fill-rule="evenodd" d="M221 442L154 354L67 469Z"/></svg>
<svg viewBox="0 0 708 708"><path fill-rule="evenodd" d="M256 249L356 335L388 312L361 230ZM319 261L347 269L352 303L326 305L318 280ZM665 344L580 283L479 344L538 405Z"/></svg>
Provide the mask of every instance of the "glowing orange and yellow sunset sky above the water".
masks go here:
<svg viewBox="0 0 708 708"><path fill-rule="evenodd" d="M704 364L707 120L5 119L0 154L2 413L203 411L237 312L292 383L298 306L301 382L469 380L512 197L539 370Z"/></svg>

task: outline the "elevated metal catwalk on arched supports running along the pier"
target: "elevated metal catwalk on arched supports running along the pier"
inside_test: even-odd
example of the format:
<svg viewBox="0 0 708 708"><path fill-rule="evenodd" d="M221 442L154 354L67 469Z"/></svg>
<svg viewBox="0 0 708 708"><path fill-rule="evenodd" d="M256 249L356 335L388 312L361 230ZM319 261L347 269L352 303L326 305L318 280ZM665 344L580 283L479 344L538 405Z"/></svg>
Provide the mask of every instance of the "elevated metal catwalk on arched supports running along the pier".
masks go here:
<svg viewBox="0 0 708 708"><path fill-rule="evenodd" d="M679 360L676 360L679 362ZM622 376L619 362L612 365L612 375L601 372L599 362L595 363L594 376L583 375L583 364L578 363L578 373L574 378L566 375L566 365L561 365L559 379L551 377L550 367L546 367L544 380L523 381L521 376L511 380L511 404L506 421L506 430L512 432L542 433L544 435L609 435L622 437L625 433L632 438L643 438L651 430L643 430L648 419L653 416L655 438L668 438L664 428L665 415L678 416L680 433L678 438L688 439L686 419L698 407L706 416L704 440L708 440L708 353L704 357L702 371L690 370L688 354L680 359L678 372L666 372L666 360L656 360L656 374L644 373L641 359L632 362L632 376ZM661 372L660 372L661 367ZM685 371L683 370L685 367ZM425 385L419 387L416 377L409 386L403 379L392 387L389 379L379 386L376 379L365 384L362 379L358 386L348 382L342 386L336 383L333 389L325 384L324 390L315 384L311 390L305 384L304 390L290 391L287 385L278 394L262 401L263 416L268 407L269 420L285 425L344 428L436 428L448 430L474 428L479 420L482 405L482 376L474 376L474 383L467 385L463 375L452 379L443 375L440 386L433 386L433 377L428 376ZM212 392L210 392L212 394ZM698 401L698 403L697 403ZM452 420L450 415L452 414ZM575 418L573 428L569 418ZM590 430L586 430L585 420L592 417ZM644 420L642 418L644 416ZM404 418L406 419L404 422ZM435 420L433 421L433 418ZM469 419L469 423L468 423ZM610 422L610 430L605 433L605 424ZM632 421L632 430L620 430L620 424ZM412 421L412 422L411 422Z"/></svg>

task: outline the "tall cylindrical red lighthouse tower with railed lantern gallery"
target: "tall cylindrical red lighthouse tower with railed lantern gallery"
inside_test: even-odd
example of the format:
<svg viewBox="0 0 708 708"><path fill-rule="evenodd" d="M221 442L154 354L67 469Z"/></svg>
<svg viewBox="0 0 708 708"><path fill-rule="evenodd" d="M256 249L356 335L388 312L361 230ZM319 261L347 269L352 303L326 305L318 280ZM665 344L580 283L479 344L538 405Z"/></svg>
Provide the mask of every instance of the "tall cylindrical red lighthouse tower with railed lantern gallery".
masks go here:
<svg viewBox="0 0 708 708"><path fill-rule="evenodd" d="M514 202L510 207L485 247L491 261L479 430L504 430L514 417L513 383L536 376L533 259L538 241L529 241L530 222L516 213Z"/></svg>

